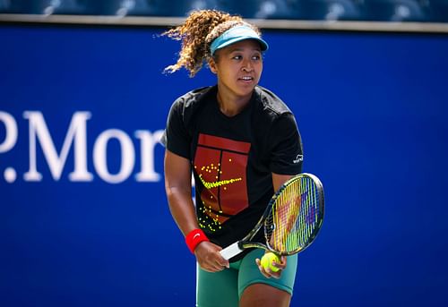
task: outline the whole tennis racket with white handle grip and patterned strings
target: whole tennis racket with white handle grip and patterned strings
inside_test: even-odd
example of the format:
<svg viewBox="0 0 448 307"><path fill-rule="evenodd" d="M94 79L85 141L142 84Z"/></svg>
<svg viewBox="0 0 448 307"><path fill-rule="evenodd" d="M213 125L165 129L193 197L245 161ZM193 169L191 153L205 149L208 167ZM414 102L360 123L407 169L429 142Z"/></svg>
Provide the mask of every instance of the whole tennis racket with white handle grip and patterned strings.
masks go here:
<svg viewBox="0 0 448 307"><path fill-rule="evenodd" d="M242 240L220 251L228 260L247 248L262 248L279 256L303 252L314 242L323 223L323 185L311 174L283 183L271 198L254 229ZM263 226L266 244L252 242Z"/></svg>

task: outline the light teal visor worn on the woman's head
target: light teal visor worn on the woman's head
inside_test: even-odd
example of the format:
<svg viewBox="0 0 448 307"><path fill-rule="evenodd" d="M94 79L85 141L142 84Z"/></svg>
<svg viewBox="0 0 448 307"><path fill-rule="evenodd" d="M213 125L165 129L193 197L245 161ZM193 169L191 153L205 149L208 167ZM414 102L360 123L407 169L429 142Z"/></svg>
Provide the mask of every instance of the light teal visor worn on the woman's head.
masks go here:
<svg viewBox="0 0 448 307"><path fill-rule="evenodd" d="M215 51L220 48L227 47L228 45L235 44L238 41L245 39L255 39L258 41L262 47L262 51L266 51L269 48L268 43L260 38L252 28L247 26L237 26L230 28L213 40L210 47L211 55L214 55Z"/></svg>

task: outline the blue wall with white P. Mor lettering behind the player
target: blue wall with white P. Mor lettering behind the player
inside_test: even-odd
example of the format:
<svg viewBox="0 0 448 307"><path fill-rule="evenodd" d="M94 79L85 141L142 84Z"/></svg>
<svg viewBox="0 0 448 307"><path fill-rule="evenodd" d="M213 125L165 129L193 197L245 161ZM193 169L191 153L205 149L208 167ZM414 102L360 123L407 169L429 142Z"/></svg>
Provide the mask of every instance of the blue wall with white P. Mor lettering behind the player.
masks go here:
<svg viewBox="0 0 448 307"><path fill-rule="evenodd" d="M161 31L0 25L1 306L194 305L154 140L214 80L161 73L179 47ZM261 83L326 193L292 306L445 306L448 36L265 38Z"/></svg>

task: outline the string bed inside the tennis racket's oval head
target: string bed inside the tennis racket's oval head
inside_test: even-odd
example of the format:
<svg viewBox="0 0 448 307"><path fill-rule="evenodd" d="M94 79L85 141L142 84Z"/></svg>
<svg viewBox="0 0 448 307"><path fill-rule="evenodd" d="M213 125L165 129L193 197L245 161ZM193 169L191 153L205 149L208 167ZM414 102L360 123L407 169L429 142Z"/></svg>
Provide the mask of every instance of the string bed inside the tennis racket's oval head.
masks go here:
<svg viewBox="0 0 448 307"><path fill-rule="evenodd" d="M309 178L299 178L280 192L266 219L266 240L273 250L297 252L314 234L319 214L318 191Z"/></svg>

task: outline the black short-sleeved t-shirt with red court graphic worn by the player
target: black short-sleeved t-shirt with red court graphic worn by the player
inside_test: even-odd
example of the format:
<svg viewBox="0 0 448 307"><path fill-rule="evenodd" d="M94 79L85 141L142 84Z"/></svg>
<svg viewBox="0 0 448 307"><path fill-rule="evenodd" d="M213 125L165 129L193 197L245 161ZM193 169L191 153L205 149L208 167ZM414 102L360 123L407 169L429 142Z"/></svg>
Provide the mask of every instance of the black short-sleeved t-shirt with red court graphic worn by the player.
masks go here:
<svg viewBox="0 0 448 307"><path fill-rule="evenodd" d="M263 215L274 193L271 173L299 174L303 153L294 115L271 91L257 86L232 117L220 112L216 97L214 86L177 98L162 142L191 161L199 226L226 247ZM263 231L257 240L264 241Z"/></svg>

